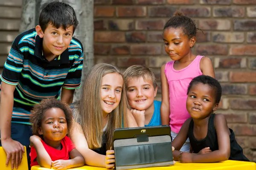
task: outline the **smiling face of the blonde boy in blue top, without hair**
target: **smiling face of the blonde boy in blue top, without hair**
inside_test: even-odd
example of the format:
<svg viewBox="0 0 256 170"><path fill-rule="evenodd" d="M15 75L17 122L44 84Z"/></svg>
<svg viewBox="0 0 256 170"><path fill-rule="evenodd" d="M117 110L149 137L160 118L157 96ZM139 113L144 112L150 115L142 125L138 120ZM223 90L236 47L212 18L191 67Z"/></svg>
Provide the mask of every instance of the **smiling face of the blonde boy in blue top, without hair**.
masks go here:
<svg viewBox="0 0 256 170"><path fill-rule="evenodd" d="M129 105L136 110L147 110L154 107L154 97L157 95L157 87L154 89L152 81L145 77L130 77L127 81L126 95Z"/></svg>

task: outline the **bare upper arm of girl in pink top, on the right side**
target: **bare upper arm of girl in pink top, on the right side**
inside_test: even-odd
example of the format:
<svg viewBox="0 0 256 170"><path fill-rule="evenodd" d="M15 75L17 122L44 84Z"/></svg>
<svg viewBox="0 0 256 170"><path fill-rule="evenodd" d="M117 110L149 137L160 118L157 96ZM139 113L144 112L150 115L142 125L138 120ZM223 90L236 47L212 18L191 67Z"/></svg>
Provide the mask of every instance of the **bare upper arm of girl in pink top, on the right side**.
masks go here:
<svg viewBox="0 0 256 170"><path fill-rule="evenodd" d="M203 57L200 61L200 69L204 75L215 78L212 61L208 57Z"/></svg>

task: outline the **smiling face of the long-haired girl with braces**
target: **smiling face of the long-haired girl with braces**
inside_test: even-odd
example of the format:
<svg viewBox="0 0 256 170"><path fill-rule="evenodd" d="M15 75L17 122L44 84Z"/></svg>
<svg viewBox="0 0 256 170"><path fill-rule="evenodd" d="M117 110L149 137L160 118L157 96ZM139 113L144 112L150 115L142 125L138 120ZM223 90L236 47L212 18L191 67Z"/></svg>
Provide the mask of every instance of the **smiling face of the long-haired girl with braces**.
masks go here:
<svg viewBox="0 0 256 170"><path fill-rule="evenodd" d="M109 73L102 77L100 103L104 117L119 105L123 83L122 76L118 73Z"/></svg>

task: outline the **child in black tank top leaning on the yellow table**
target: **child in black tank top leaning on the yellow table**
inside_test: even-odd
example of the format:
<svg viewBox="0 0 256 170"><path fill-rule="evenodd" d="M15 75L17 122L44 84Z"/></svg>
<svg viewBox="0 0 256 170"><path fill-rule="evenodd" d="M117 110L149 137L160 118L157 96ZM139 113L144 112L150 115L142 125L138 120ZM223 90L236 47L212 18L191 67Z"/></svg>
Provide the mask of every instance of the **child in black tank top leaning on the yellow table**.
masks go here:
<svg viewBox="0 0 256 170"><path fill-rule="evenodd" d="M236 142L233 130L228 128L224 115L213 113L221 99L219 82L205 75L195 77L189 84L187 94L186 109L191 118L186 120L172 142L174 159L182 163L227 159L249 161ZM179 151L187 137L192 153Z"/></svg>

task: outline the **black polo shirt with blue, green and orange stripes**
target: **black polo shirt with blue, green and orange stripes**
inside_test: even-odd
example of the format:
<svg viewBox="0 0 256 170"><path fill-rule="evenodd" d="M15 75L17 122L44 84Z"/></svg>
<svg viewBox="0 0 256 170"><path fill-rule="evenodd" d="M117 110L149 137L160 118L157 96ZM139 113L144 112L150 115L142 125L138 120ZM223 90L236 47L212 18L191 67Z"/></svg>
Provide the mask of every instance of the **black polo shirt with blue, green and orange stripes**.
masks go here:
<svg viewBox="0 0 256 170"><path fill-rule="evenodd" d="M60 97L61 87L81 85L83 46L73 37L69 47L49 62L42 53L43 38L35 28L18 35L4 64L1 81L16 85L12 122L29 124L32 107L42 99ZM4 99L1 99L4 100Z"/></svg>

